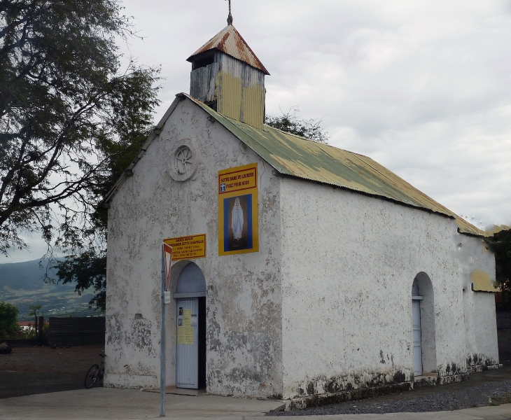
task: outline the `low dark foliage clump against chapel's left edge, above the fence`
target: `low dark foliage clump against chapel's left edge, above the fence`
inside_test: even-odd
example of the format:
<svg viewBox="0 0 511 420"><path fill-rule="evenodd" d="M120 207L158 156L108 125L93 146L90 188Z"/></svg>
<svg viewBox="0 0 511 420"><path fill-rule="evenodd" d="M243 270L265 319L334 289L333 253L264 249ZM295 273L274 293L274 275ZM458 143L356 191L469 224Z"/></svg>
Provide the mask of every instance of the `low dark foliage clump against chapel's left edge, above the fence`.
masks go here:
<svg viewBox="0 0 511 420"><path fill-rule="evenodd" d="M106 251L85 251L79 255L69 255L55 264L57 276L62 283L76 282L76 292L83 293L94 287L97 294L89 304L99 310L105 310L106 304Z"/></svg>

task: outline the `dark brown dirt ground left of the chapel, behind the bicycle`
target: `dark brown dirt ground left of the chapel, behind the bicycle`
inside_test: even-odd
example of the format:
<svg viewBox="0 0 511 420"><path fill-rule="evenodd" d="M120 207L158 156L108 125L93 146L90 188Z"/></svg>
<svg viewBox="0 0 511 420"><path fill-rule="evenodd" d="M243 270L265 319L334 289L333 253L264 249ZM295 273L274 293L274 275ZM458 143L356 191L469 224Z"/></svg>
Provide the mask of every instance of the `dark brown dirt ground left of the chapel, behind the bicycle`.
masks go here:
<svg viewBox="0 0 511 420"><path fill-rule="evenodd" d="M50 349L15 347L0 354L0 398L83 388L85 373L99 363L99 344Z"/></svg>

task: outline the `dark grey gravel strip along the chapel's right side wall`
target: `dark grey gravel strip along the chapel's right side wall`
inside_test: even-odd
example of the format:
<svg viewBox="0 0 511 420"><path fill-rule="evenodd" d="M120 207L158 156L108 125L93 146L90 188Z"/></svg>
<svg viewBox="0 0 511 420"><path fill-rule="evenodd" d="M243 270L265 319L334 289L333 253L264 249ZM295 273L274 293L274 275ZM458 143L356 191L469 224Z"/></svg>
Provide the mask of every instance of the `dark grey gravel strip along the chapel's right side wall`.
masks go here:
<svg viewBox="0 0 511 420"><path fill-rule="evenodd" d="M388 395L380 398L341 402L339 404L323 405L291 412L274 412L274 416L313 416L331 414L384 414L398 412L437 412L480 407L487 405L482 401L482 395L495 398L510 395L511 380L488 382L463 391L435 391L425 395L414 392L400 395ZM408 396L409 395L409 396ZM397 397L397 398L396 398Z"/></svg>

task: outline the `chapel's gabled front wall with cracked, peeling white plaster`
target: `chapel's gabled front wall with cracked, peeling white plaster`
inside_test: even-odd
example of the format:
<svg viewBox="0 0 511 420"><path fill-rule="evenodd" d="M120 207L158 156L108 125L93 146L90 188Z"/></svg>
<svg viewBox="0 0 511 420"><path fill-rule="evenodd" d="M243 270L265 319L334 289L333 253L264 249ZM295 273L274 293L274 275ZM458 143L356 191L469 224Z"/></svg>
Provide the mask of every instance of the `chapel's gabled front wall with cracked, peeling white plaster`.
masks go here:
<svg viewBox="0 0 511 420"><path fill-rule="evenodd" d="M169 151L181 139L193 139L202 155L197 172L184 182L168 173ZM252 162L258 162L260 251L220 257L218 170ZM206 233L207 258L193 261L207 282L207 391L281 395L280 179L189 100L178 104L133 172L109 210L106 386L159 386L161 241ZM176 283L174 276L172 292ZM172 385L176 302L168 306Z"/></svg>

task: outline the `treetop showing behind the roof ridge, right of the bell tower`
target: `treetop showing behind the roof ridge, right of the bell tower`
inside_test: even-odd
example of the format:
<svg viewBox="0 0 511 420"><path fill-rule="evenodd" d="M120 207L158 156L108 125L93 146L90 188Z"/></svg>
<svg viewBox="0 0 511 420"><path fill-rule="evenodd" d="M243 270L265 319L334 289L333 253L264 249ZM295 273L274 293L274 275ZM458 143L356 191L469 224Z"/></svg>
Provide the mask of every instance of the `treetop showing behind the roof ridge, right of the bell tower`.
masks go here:
<svg viewBox="0 0 511 420"><path fill-rule="evenodd" d="M295 106L282 116L266 116L265 123L270 127L277 128L284 132L296 134L318 143L328 143L328 132L321 128L321 120L311 118L304 120L298 117L300 110Z"/></svg>

